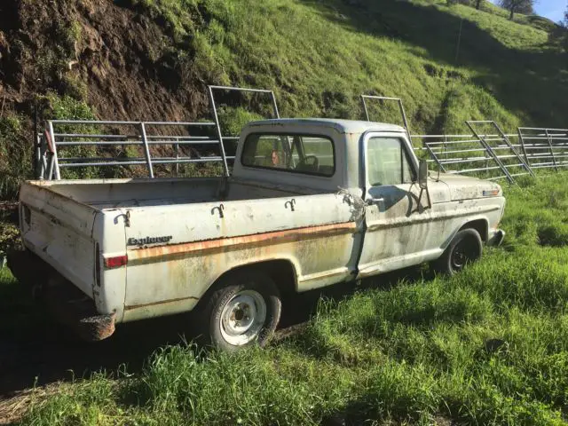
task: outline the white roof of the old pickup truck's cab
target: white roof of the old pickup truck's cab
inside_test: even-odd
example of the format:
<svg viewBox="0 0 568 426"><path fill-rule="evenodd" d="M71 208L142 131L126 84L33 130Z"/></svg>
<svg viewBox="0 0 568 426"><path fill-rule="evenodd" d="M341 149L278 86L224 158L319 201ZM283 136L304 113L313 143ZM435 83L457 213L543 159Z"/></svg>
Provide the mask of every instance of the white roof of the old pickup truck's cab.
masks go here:
<svg viewBox="0 0 568 426"><path fill-rule="evenodd" d="M364 133L366 131L406 131L404 127L386 122L363 122L359 120L340 120L335 118L276 118L271 120L259 120L249 122L248 127L274 127L298 126L298 127L330 127L340 133Z"/></svg>

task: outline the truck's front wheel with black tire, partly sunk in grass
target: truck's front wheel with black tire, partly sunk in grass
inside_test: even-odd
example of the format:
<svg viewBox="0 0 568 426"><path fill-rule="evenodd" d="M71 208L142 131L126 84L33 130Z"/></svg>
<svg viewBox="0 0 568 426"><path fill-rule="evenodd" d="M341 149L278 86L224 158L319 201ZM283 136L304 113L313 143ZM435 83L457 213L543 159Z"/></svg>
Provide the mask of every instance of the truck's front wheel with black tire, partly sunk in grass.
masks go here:
<svg viewBox="0 0 568 426"><path fill-rule="evenodd" d="M446 251L432 263L435 272L454 275L467 264L475 262L483 253L483 241L475 229L462 229L454 235L454 239Z"/></svg>

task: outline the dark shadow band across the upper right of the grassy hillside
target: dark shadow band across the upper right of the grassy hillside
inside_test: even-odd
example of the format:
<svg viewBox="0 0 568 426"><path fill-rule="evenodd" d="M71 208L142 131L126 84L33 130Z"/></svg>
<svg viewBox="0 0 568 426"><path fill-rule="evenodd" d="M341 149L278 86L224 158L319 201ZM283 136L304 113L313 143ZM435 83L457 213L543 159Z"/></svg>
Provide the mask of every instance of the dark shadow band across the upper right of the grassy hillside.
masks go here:
<svg viewBox="0 0 568 426"><path fill-rule="evenodd" d="M509 48L475 22L461 20L434 5L395 0L305 0L304 3L344 28L404 41L427 51L425 59L474 69L478 74L471 83L485 88L509 111L526 113L531 122L540 126L565 125L568 56L559 50L544 44L539 46L540 51ZM460 28L461 43L456 61ZM422 53L415 51L414 54ZM424 68L428 75L446 78L447 83L461 78L428 63L424 63ZM439 130L443 129L430 129Z"/></svg>

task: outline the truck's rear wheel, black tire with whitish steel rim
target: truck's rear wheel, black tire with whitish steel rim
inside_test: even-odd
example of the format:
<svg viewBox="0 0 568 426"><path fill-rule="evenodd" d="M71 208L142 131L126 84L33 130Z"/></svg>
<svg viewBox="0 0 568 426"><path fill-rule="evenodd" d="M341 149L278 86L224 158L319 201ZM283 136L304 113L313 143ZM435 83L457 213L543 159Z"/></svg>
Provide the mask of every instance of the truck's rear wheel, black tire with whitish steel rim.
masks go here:
<svg viewBox="0 0 568 426"><path fill-rule="evenodd" d="M203 325L200 328L204 343L222 351L237 351L253 344L264 347L272 338L282 311L274 281L262 272L244 270L228 274L216 287L204 301L198 319ZM249 320L251 325L246 333L234 334L241 325L246 327Z"/></svg>

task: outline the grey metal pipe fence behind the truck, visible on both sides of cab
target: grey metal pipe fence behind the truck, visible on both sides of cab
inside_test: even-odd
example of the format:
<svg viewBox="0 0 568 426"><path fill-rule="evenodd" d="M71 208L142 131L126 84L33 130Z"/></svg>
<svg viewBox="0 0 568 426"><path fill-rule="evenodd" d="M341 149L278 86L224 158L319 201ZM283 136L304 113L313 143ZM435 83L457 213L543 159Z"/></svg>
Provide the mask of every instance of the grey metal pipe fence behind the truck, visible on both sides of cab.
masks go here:
<svg viewBox="0 0 568 426"><path fill-rule="evenodd" d="M239 137L222 132L216 98L221 91L267 95L272 117L280 118L273 91L211 85L208 95L213 121L209 122L48 120L43 133L36 134L36 177L61 179L62 169L139 166L143 172L146 170L148 177L154 178L155 169L160 165L171 165L171 173L177 176L180 164L206 162L220 162L223 175L228 177L229 162L234 161L234 156L226 154L225 142ZM488 120L465 122L471 134L412 135L402 99L365 94L360 98L367 121L370 121L367 101L396 102L414 150L442 172L506 178L513 182L517 176L534 176L533 169L561 170L568 166L568 129L519 127L517 133L506 134L497 122ZM117 128L126 131L117 132ZM169 133L159 131L164 129ZM183 134L171 134L174 130ZM77 149L86 146L91 147L87 155L76 154ZM97 153L97 148L102 146L114 146L122 151L130 147L135 155L108 156L106 153L105 156ZM216 149L218 154L201 155L195 146L205 151ZM66 150L71 154L61 155Z"/></svg>

